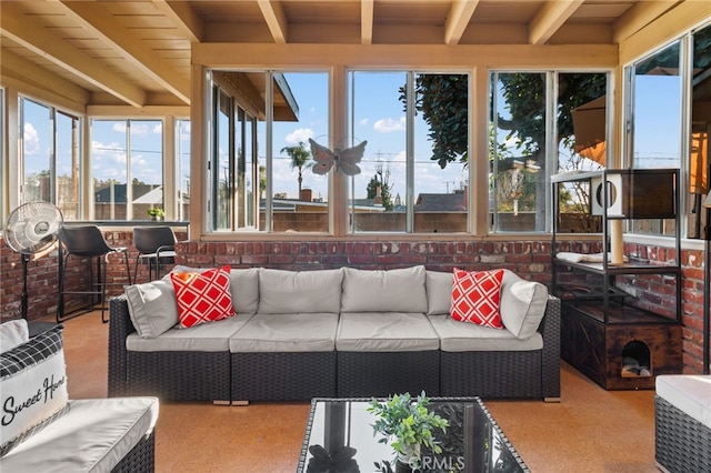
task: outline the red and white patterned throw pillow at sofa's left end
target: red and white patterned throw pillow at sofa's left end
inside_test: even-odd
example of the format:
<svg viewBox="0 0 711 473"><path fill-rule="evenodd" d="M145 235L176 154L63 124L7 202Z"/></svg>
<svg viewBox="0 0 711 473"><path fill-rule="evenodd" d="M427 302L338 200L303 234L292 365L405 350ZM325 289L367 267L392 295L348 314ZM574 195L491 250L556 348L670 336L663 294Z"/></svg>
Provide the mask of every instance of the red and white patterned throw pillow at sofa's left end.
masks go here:
<svg viewBox="0 0 711 473"><path fill-rule="evenodd" d="M234 315L230 266L204 272L172 272L178 319L183 329Z"/></svg>

